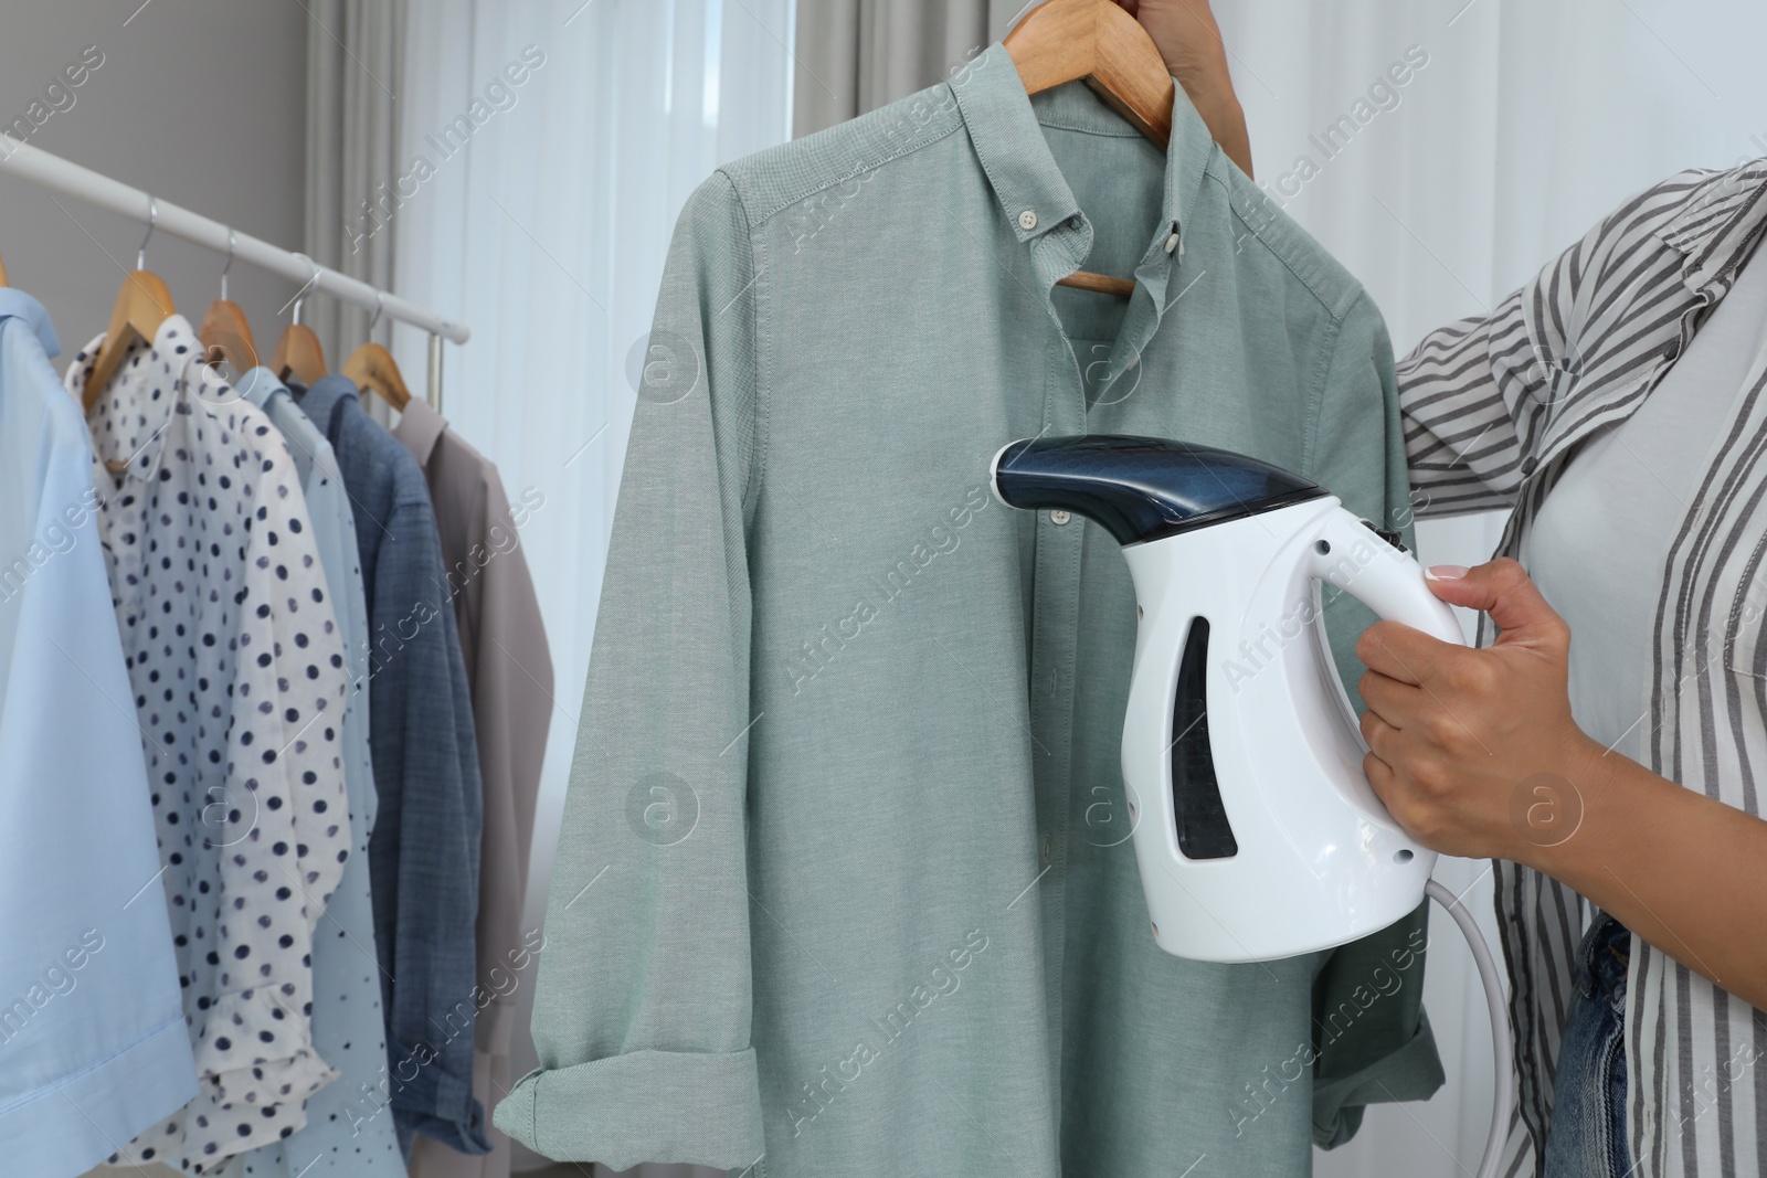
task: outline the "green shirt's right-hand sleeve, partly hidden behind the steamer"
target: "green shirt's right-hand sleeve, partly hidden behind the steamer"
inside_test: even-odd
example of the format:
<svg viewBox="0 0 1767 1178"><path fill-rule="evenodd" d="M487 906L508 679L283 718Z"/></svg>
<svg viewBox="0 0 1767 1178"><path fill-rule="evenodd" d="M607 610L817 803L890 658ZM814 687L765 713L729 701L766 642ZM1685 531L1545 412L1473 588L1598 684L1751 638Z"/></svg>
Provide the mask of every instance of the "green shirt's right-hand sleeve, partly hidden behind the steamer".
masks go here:
<svg viewBox="0 0 1767 1178"><path fill-rule="evenodd" d="M1398 532L1415 549L1398 408L1387 327L1362 293L1339 328L1309 468L1346 509ZM1373 466L1357 457L1368 454L1382 454L1384 461ZM1331 586L1323 600L1332 657L1361 712L1355 683L1364 668L1355 641L1375 613ZM1320 1146L1354 1137L1362 1106L1424 1100L1444 1083L1422 1010L1428 908L1424 901L1403 920L1322 959L1313 984L1313 1141Z"/></svg>

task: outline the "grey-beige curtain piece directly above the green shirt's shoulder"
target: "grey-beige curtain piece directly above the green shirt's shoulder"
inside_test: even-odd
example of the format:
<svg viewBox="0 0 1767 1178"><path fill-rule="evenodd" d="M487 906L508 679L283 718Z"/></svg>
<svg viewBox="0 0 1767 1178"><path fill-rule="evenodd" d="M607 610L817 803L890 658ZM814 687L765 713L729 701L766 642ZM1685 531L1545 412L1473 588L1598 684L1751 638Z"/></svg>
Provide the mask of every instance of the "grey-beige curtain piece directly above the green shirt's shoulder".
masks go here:
<svg viewBox="0 0 1767 1178"><path fill-rule="evenodd" d="M799 0L792 134L944 81L1030 7L1027 0Z"/></svg>

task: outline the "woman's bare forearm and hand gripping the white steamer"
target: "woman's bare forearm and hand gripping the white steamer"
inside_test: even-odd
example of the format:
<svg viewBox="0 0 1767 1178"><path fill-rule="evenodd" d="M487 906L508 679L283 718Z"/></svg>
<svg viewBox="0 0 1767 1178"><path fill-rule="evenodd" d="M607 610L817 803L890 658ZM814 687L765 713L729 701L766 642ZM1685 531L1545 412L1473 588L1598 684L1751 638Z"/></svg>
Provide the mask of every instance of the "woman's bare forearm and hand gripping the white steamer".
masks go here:
<svg viewBox="0 0 1767 1178"><path fill-rule="evenodd" d="M1502 632L1486 650L1396 622L1362 632L1364 768L1392 818L1437 851L1553 876L1767 1010L1767 821L1576 726L1571 629L1521 565L1430 572L1437 597L1490 611Z"/></svg>

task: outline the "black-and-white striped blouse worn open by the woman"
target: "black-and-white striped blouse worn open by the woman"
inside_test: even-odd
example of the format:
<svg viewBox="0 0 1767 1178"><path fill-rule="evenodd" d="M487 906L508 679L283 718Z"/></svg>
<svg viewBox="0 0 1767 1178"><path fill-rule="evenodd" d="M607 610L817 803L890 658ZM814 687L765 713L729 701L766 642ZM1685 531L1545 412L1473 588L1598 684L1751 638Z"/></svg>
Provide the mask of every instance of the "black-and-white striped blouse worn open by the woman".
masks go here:
<svg viewBox="0 0 1767 1178"><path fill-rule="evenodd" d="M1767 159L1638 193L1495 311L1398 366L1419 516L1514 509L1514 556L1578 443L1636 410L1728 293L1767 226ZM1656 592L1649 766L1762 814L1767 772L1767 366L1700 472ZM1481 615L1479 645L1490 641ZM1739 876L1763 864L1737 864ZM1587 901L1495 864L1518 1109L1504 1174L1537 1174ZM1739 929L1767 936L1767 929ZM1636 1174L1767 1178L1767 1014L1633 938L1627 1134Z"/></svg>

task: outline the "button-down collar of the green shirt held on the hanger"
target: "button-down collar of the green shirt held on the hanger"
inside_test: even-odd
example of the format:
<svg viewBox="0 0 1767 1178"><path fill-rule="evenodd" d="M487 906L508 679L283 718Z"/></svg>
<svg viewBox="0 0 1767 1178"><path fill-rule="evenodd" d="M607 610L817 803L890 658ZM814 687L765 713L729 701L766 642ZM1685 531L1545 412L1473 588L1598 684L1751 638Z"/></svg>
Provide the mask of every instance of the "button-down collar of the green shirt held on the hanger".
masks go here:
<svg viewBox="0 0 1767 1178"><path fill-rule="evenodd" d="M1014 237L1028 242L1053 230L1073 230L1076 226L1069 226L1067 221L1078 215L1080 228L1085 230L1083 240L1078 242L1080 256L1085 256L1090 249L1090 224L1085 223L1085 214L1080 212L1073 189L1050 152L1037 111L1005 46L993 42L986 53L965 64L947 85ZM1104 134L1129 129L1126 120L1081 92L1080 85L1083 83L1046 95L1060 106L1064 124L1080 118ZM1073 94L1062 94L1069 88ZM1184 87L1173 85L1163 214L1161 223L1154 226L1154 240L1164 242L1175 226L1184 224L1212 150L1214 140L1207 124L1184 95ZM1032 215L1027 217L1027 212Z"/></svg>

